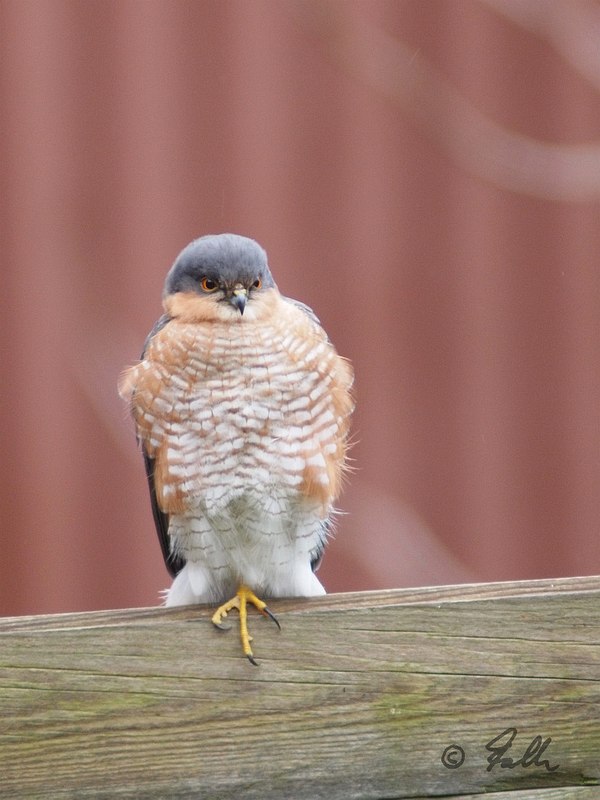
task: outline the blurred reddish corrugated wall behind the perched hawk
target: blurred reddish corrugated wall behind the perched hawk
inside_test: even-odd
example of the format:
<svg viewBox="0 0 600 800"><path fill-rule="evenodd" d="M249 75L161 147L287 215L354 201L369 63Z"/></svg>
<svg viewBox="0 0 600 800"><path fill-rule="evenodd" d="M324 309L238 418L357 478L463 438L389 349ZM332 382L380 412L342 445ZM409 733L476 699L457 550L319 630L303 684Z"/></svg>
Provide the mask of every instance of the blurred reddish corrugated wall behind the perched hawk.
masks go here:
<svg viewBox="0 0 600 800"><path fill-rule="evenodd" d="M167 583L117 396L191 239L356 370L330 591L600 572L600 5L0 0L0 613Z"/></svg>

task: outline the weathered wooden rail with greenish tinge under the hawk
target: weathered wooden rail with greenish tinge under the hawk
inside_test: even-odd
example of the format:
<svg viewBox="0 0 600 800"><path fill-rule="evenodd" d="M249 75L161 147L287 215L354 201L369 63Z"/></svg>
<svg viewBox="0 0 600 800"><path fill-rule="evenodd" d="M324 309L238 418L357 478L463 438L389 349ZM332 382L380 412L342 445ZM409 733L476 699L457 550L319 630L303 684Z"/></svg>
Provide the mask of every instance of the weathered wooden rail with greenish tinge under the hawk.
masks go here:
<svg viewBox="0 0 600 800"><path fill-rule="evenodd" d="M600 797L600 578L271 607L0 620L0 797Z"/></svg>

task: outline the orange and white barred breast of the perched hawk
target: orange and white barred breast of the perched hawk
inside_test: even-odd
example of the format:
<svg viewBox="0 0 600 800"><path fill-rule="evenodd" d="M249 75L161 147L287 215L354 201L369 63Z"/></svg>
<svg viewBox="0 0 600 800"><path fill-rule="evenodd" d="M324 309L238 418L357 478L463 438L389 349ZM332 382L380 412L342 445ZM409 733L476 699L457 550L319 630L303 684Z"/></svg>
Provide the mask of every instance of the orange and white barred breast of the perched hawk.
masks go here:
<svg viewBox="0 0 600 800"><path fill-rule="evenodd" d="M297 314L292 324L170 324L155 337L136 417L165 510L269 495L329 507L345 449L341 359Z"/></svg>

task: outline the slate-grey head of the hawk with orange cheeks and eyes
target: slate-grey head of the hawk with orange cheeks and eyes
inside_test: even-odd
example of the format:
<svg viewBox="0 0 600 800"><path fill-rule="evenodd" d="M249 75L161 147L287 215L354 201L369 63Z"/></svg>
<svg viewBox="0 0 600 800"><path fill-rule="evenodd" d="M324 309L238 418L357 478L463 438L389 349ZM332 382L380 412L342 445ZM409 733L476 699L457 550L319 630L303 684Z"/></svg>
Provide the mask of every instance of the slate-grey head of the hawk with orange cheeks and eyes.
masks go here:
<svg viewBox="0 0 600 800"><path fill-rule="evenodd" d="M241 319L267 290L276 289L263 248L246 236L202 236L177 256L165 281L167 313L190 321Z"/></svg>

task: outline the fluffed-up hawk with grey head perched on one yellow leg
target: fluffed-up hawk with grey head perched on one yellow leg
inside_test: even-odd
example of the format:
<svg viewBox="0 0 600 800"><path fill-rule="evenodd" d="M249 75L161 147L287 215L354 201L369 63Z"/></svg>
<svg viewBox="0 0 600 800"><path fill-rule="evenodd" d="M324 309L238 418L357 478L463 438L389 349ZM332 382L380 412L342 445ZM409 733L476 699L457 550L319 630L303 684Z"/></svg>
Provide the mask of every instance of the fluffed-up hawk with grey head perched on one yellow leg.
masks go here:
<svg viewBox="0 0 600 800"><path fill-rule="evenodd" d="M354 374L315 313L279 292L265 250L195 239L167 273L163 315L124 370L162 555L166 606L239 612L325 594L316 571L348 468ZM279 626L280 627L280 626Z"/></svg>

